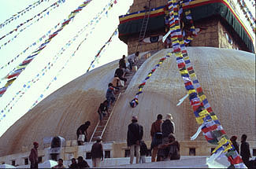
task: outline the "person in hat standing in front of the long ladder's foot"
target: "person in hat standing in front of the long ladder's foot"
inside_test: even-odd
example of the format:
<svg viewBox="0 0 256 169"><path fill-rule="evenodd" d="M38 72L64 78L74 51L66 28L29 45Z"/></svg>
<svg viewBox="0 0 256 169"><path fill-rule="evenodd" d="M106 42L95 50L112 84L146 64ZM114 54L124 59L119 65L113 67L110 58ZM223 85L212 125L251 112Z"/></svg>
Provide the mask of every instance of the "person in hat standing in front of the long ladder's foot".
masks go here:
<svg viewBox="0 0 256 169"><path fill-rule="evenodd" d="M103 160L103 146L101 141L102 138L98 136L95 144L93 144L91 147L91 159L93 167L100 167L101 159Z"/></svg>

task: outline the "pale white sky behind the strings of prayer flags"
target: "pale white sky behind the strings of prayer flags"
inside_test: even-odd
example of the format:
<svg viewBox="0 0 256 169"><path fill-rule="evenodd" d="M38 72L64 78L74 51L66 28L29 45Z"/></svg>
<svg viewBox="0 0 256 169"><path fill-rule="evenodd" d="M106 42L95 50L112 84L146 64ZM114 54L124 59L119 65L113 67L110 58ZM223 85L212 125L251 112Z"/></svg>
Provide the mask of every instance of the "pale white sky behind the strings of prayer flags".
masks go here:
<svg viewBox="0 0 256 169"><path fill-rule="evenodd" d="M0 37L6 35L9 31L12 31L13 28L16 28L17 25L34 17L39 12L43 11L43 9L46 9L57 1L58 0L46 0L41 3L40 6L36 6L35 9L32 9L28 13L24 13L18 20L14 20L7 24L5 28L0 28ZM58 8L51 10L46 17L43 17L35 23L32 21L34 24L20 32L16 39L0 49L0 67L5 65L8 61L11 61L17 54L24 51L24 49L30 46L33 42L36 42L37 39L45 35L46 32L56 24L62 23L64 19L68 18L69 13L80 6L83 1L84 0L65 0L65 2L61 3ZM2 24L6 19L12 17L13 14L25 9L28 5L31 5L34 2L38 2L38 0L0 0L0 2L0 24ZM50 43L47 44L46 48L44 48L42 52L28 64L24 72L22 72L18 79L8 88L3 97L0 97L0 111L6 108L6 105L10 103L4 112L6 117L2 118L2 114L0 114L0 119L2 118L0 121L0 137L17 121L17 119L20 119L21 116L24 116L24 114L32 108L35 101L42 101L43 98L47 97L55 90L58 90L58 88L64 86L66 83L83 75L87 71L87 68L91 64L91 61L94 60L98 50L105 45L109 37L113 34L113 31L117 28L117 25L119 24L118 16L127 13L133 0L117 0L117 4L109 10L107 15L103 14L102 19L96 22L97 19L93 18L97 16L97 13L102 11L102 8L106 6L108 2L110 2L110 0L93 0L83 8L83 10L78 13L76 17L50 41ZM255 16L255 9L251 5L251 2L246 0L246 3ZM237 2L236 7L239 9ZM242 20L245 19L243 13L240 14L240 17ZM91 20L94 22L90 25ZM61 48L65 47L70 39L73 39L73 37L78 35L77 32L88 23L89 26L87 26L85 31L79 34L76 40L72 42L72 45L70 45L60 57L58 53ZM248 25L246 20L244 21L244 24ZM250 30L250 28L248 29ZM250 33L253 35L251 30ZM14 35L9 35L5 39L0 40L0 46L7 40L12 39L13 36ZM85 37L87 37L87 39L83 42ZM39 42L39 44L42 42ZM80 45L80 42L83 43ZM79 45L80 48L76 51L76 48ZM39 45L30 47L29 50L20 55L16 61L13 61L12 64L1 69L0 81L2 81L2 78L13 70L13 68L16 68L18 64L35 51L38 46ZM76 53L74 57L71 57L74 51L76 51ZM120 59L123 54L127 55L127 52L127 45L124 44L124 42L121 42L117 35L114 35L112 42L106 47L106 51L102 53L98 62L95 62L95 68L107 64L110 61ZM58 58L58 60L54 62L54 59L56 58ZM36 83L32 83L32 86L29 89L26 88L24 90L24 84L35 79L36 75L42 71L49 61L54 63L53 66L45 75L41 75ZM69 61L68 64L66 64L67 61ZM53 80L56 76L57 79ZM0 88L4 86L5 83L5 81L2 81L2 83L0 83ZM46 90L46 87L49 84L50 87ZM24 91L24 94L22 97L15 97L13 100L13 96L16 96L19 90ZM40 98L41 94L43 94L43 98ZM10 109L10 107L12 108ZM9 112L7 110L9 110Z"/></svg>

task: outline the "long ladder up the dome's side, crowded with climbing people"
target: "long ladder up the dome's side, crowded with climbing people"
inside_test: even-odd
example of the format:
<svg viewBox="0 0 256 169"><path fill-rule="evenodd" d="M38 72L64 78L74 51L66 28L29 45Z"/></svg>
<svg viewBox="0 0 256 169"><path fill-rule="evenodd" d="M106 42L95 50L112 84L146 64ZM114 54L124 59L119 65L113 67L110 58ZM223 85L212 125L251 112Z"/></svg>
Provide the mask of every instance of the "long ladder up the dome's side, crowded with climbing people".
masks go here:
<svg viewBox="0 0 256 169"><path fill-rule="evenodd" d="M156 51L150 51L151 55L156 53ZM140 68L140 66L144 63L144 61L146 61L147 58L145 57L141 57L139 59L139 61L137 61L135 63L135 65L137 66L138 70ZM91 134L91 139L90 139L90 142L91 141L96 141L96 138L98 136L103 136L105 130L106 130L106 127L109 123L109 119L111 118L112 116L112 112L113 112L113 109L115 108L115 104L116 102L118 101L119 97L121 96L121 94L123 94L125 92L125 90L127 89L129 83L131 82L132 80L132 77L135 75L136 72L132 72L132 73L129 73L128 75L125 75L125 78L127 79L127 82L125 83L125 86L123 87L120 87L120 90L117 94L115 94L115 97L116 97L116 101L113 103L113 105L110 105L109 106L109 116L105 116L102 118L102 121L98 120L98 123L95 127L95 130L93 132L93 134Z"/></svg>

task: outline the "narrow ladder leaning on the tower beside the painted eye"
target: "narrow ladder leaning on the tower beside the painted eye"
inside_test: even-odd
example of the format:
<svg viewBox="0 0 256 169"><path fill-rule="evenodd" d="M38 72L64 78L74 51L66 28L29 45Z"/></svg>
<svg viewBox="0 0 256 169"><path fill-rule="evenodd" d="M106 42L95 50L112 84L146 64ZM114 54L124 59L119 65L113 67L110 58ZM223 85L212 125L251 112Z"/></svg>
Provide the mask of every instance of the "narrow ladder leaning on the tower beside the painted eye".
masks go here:
<svg viewBox="0 0 256 169"><path fill-rule="evenodd" d="M141 42L145 38L145 35L146 35L146 32L147 32L147 24L148 24L148 20L150 19L151 0L148 1L148 6L146 5L145 9L146 9L146 13L143 17L143 24L142 24L142 26L140 28L140 31L139 31L139 42L138 42L138 45L136 47L136 51L140 50Z"/></svg>

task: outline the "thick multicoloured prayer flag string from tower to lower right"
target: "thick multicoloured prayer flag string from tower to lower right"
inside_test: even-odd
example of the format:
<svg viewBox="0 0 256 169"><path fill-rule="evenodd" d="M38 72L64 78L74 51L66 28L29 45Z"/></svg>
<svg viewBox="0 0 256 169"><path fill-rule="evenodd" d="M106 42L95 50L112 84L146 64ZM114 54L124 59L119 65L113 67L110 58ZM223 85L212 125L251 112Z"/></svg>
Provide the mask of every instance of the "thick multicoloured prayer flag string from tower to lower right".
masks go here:
<svg viewBox="0 0 256 169"><path fill-rule="evenodd" d="M202 92L202 87L198 83L195 71L191 66L184 39L180 31L180 8L182 8L182 1L169 0L169 16L170 16L170 31L173 43L173 53L176 55L176 64L180 69L180 75L184 79L184 85L191 101L191 106L194 110L195 118L198 124L202 124L198 130L202 130L206 140L211 144L218 145L213 150L213 156L209 161L215 160L222 152L226 153L236 151L232 147L231 141L228 140L221 123L217 116L213 113L206 96ZM195 134L195 139L198 132ZM229 157L229 156L228 156ZM243 161L239 156L236 156L236 164ZM234 163L235 164L235 163Z"/></svg>

